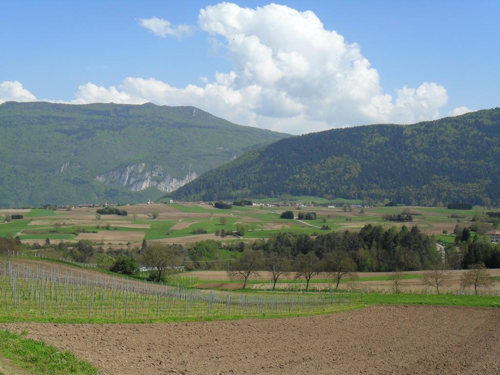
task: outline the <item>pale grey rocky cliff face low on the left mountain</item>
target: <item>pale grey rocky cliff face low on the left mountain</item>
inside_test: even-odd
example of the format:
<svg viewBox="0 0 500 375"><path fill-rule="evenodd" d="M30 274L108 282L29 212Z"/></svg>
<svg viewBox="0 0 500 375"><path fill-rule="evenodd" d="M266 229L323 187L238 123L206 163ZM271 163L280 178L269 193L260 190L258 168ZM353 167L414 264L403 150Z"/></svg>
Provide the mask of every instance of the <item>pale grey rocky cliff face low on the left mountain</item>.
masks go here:
<svg viewBox="0 0 500 375"><path fill-rule="evenodd" d="M172 178L169 173L163 171L161 165L136 163L97 175L95 179L107 184L122 185L132 191L156 186L158 189L168 192L176 190L196 177L196 172L189 170L183 178Z"/></svg>

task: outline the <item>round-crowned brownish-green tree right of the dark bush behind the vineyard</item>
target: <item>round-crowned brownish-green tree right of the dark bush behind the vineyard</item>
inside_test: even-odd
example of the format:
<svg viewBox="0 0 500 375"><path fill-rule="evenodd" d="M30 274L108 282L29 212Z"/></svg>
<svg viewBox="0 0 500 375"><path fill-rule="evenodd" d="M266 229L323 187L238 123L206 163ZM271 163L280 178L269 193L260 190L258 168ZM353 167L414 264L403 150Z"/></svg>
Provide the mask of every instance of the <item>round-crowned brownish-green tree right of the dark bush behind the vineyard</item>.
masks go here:
<svg viewBox="0 0 500 375"><path fill-rule="evenodd" d="M156 268L158 280L161 281L161 275L166 267L180 264L183 249L182 246L176 244L149 242L145 248L142 248L141 255L146 265Z"/></svg>

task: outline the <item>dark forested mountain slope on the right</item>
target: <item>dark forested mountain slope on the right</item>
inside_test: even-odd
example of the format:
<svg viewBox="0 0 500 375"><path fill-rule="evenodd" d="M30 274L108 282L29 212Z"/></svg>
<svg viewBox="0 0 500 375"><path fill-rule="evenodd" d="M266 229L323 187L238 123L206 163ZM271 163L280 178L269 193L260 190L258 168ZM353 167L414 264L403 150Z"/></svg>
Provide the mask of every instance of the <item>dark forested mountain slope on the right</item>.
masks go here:
<svg viewBox="0 0 500 375"><path fill-rule="evenodd" d="M283 193L500 204L500 108L281 139L206 172L173 196L214 200Z"/></svg>

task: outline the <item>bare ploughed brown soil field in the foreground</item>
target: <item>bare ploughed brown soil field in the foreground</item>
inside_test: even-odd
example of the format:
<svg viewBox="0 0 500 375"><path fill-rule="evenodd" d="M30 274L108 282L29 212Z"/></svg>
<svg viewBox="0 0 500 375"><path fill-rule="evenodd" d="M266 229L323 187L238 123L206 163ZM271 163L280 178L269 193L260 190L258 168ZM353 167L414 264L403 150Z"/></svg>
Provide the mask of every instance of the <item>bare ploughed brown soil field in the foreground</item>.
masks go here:
<svg viewBox="0 0 500 375"><path fill-rule="evenodd" d="M285 319L5 327L103 374L500 373L500 309L371 306Z"/></svg>

